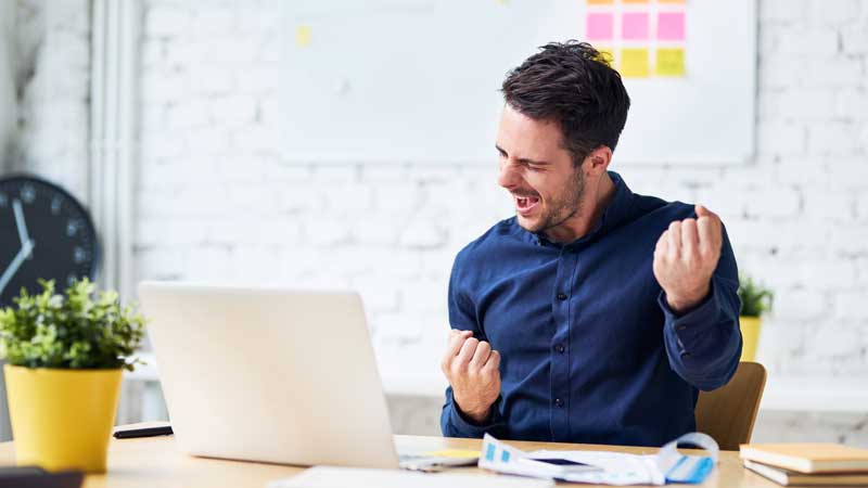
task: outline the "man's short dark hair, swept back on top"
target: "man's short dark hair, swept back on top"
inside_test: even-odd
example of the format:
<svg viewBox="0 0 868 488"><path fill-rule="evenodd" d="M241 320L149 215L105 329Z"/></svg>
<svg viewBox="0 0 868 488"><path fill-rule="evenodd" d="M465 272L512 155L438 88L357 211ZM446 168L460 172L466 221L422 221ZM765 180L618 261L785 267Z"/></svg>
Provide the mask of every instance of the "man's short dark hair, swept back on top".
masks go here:
<svg viewBox="0 0 868 488"><path fill-rule="evenodd" d="M559 124L575 165L601 145L614 151L630 98L611 55L575 40L539 49L507 74L506 102L527 117Z"/></svg>

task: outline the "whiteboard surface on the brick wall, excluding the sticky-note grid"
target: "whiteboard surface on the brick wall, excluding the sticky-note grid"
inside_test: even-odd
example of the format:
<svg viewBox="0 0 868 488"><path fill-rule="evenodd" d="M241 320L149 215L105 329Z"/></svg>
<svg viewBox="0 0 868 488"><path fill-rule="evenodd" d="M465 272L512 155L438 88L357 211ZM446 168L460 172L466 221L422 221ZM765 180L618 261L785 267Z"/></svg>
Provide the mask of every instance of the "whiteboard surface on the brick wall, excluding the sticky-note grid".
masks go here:
<svg viewBox="0 0 868 488"><path fill-rule="evenodd" d="M596 7L578 0L282 4L284 157L433 164L492 164L507 72L547 42L584 40L585 15ZM615 160L744 163L754 147L755 0L687 0L681 8L685 75L625 78L633 103Z"/></svg>

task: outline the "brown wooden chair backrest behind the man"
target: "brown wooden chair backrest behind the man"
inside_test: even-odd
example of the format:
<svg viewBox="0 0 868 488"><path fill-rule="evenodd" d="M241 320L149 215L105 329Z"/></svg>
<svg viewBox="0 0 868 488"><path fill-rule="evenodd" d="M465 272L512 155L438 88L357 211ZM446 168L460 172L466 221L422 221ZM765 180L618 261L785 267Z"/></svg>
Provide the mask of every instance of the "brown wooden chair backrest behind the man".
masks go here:
<svg viewBox="0 0 868 488"><path fill-rule="evenodd" d="M751 441L760 400L766 386L766 369L758 362L740 362L732 380L713 391L700 391L697 431L714 438L724 450L738 450Z"/></svg>

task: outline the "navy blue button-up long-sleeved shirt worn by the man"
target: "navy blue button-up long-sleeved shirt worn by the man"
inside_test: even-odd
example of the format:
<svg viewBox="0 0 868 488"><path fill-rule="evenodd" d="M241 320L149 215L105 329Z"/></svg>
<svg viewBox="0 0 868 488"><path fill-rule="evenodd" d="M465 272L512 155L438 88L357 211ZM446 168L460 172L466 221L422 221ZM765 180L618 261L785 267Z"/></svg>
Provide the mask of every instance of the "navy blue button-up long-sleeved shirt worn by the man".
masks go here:
<svg viewBox="0 0 868 488"><path fill-rule="evenodd" d="M741 355L738 270L724 230L709 296L675 313L654 278L660 235L694 207L615 194L591 232L562 245L497 223L456 257L452 329L501 355L500 397L480 425L446 389L449 437L662 446L695 429L699 389L726 384Z"/></svg>

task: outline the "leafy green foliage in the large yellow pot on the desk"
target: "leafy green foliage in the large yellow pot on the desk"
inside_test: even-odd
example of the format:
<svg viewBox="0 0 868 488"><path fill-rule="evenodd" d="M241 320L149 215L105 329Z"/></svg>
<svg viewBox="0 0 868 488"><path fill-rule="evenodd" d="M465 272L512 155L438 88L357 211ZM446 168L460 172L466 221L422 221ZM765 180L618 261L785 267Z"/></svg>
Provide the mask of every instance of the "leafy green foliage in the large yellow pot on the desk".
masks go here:
<svg viewBox="0 0 868 488"><path fill-rule="evenodd" d="M116 292L100 292L87 278L64 294L40 280L42 293L22 288L15 307L0 310L0 356L13 365L132 371L132 354L144 334L144 318L122 307Z"/></svg>

